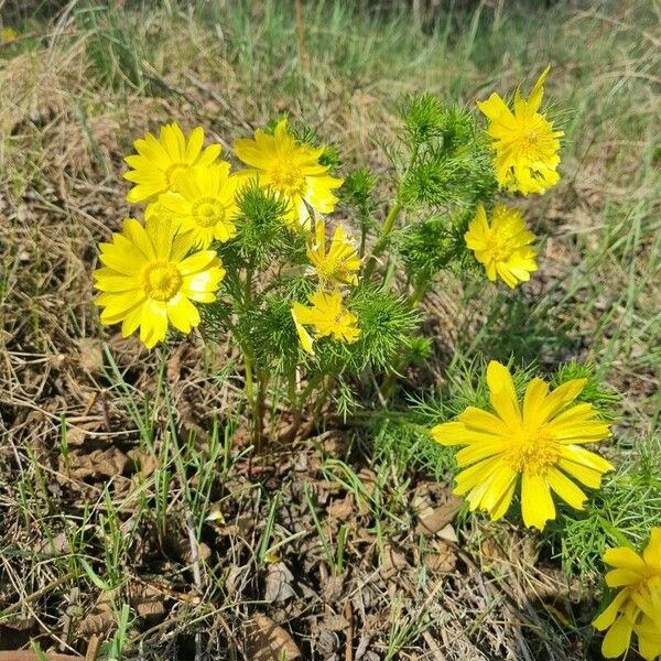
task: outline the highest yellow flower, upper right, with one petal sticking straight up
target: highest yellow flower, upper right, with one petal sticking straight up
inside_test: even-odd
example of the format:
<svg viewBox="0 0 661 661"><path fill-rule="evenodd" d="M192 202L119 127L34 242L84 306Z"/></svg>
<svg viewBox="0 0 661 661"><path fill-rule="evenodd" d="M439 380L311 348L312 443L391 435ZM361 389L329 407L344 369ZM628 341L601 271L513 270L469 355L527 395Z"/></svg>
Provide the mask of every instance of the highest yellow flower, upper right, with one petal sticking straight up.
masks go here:
<svg viewBox="0 0 661 661"><path fill-rule="evenodd" d="M517 88L513 112L497 94L477 104L489 120L488 133L496 149L496 178L507 191L523 195L544 193L560 181L559 138L564 132L554 131L553 123L539 112L550 68L539 77L528 100Z"/></svg>

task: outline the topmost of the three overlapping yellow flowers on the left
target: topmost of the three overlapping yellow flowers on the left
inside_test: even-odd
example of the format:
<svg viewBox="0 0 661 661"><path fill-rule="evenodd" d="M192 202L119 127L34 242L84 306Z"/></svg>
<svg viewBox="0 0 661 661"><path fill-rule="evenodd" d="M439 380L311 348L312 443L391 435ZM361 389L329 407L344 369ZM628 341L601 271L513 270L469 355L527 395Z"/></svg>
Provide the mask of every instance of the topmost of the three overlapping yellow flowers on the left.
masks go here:
<svg viewBox="0 0 661 661"><path fill-rule="evenodd" d="M136 185L127 195L132 203L155 199L161 193L176 191L176 178L193 165L210 165L220 154L220 145L203 149L204 129L197 127L186 138L175 122L161 127L156 140L151 133L136 140L137 154L124 161L132 170L123 176Z"/></svg>

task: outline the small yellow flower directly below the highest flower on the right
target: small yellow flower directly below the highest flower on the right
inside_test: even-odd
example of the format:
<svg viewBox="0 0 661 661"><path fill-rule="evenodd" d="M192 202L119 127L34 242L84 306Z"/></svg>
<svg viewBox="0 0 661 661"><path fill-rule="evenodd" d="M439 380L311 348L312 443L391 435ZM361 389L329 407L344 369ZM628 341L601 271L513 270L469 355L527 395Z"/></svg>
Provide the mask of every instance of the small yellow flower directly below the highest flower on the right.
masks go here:
<svg viewBox="0 0 661 661"><path fill-rule="evenodd" d="M497 204L489 225L485 207L480 204L464 238L477 261L485 266L491 282L500 275L513 289L519 282L528 282L530 273L538 269L535 250L530 246L534 235L528 230L517 209Z"/></svg>

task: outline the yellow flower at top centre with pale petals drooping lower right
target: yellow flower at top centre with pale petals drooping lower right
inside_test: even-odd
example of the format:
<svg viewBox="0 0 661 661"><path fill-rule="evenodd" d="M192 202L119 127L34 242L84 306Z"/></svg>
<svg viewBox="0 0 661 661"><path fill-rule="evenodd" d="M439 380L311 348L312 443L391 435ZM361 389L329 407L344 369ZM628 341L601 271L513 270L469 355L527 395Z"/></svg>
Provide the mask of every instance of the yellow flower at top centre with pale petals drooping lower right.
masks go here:
<svg viewBox="0 0 661 661"><path fill-rule="evenodd" d="M324 148L301 144L289 131L283 119L272 136L254 131L254 140L235 142L235 152L250 170L237 173L246 180L257 178L262 187L271 187L288 201L286 220L310 226L310 205L315 212L329 214L337 197L332 193L343 180L328 174L328 166L319 163Z"/></svg>

